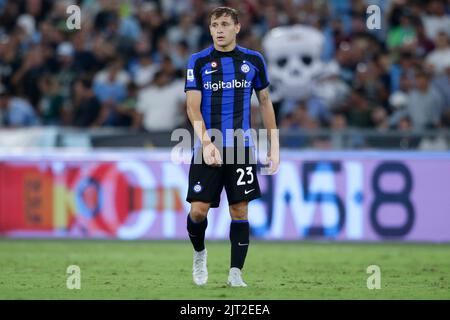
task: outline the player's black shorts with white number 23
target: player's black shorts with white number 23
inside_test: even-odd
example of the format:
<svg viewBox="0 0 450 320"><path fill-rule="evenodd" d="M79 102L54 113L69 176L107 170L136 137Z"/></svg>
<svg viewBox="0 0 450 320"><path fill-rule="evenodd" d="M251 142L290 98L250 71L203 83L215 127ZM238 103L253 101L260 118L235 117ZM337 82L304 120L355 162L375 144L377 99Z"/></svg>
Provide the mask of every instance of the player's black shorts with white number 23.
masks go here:
<svg viewBox="0 0 450 320"><path fill-rule="evenodd" d="M204 163L202 149L196 149L189 169L189 189L186 201L206 202L211 204L211 208L217 208L224 187L229 205L260 198L261 191L256 175L254 148L246 147L244 149L245 158L241 157L241 161L238 162L237 150L225 148L222 153L224 164L220 167L212 167ZM233 156L227 158L226 152L230 152L229 155ZM231 158L234 161L230 161ZM197 161L194 163L194 160Z"/></svg>

